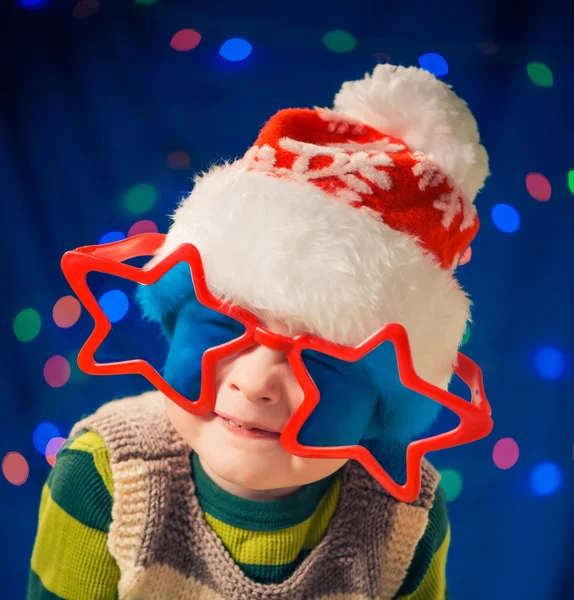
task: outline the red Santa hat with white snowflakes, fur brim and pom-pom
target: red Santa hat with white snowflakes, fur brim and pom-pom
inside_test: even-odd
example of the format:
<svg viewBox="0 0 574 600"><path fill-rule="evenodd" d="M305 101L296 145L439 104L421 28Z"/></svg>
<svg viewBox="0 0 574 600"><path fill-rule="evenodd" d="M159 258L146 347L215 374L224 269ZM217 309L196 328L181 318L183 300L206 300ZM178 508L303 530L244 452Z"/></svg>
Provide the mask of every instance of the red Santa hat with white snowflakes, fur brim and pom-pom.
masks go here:
<svg viewBox="0 0 574 600"><path fill-rule="evenodd" d="M401 323L419 376L446 389L471 305L454 269L487 176L451 86L378 65L334 109L280 110L241 159L198 175L150 264L191 242L216 296L339 344ZM148 318L177 309L174 281L151 286Z"/></svg>

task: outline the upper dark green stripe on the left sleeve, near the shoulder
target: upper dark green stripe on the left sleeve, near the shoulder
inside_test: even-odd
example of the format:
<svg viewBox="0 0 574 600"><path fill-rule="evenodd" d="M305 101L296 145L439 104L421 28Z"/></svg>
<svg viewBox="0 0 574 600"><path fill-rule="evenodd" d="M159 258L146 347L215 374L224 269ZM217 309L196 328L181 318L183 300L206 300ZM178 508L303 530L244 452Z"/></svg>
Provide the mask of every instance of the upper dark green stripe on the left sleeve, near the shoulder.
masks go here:
<svg viewBox="0 0 574 600"><path fill-rule="evenodd" d="M108 533L113 501L93 456L64 445L56 464L47 481L53 500L83 525Z"/></svg>

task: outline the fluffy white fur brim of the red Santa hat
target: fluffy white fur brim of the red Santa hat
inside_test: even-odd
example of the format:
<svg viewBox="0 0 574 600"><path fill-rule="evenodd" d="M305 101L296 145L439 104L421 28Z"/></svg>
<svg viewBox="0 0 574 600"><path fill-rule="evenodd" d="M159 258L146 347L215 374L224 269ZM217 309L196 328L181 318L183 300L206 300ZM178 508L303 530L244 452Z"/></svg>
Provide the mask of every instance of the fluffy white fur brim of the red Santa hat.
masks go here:
<svg viewBox="0 0 574 600"><path fill-rule="evenodd" d="M447 389L471 302L413 236L242 160L197 176L173 220L150 264L192 243L212 293L292 335L354 346L401 323L418 375Z"/></svg>

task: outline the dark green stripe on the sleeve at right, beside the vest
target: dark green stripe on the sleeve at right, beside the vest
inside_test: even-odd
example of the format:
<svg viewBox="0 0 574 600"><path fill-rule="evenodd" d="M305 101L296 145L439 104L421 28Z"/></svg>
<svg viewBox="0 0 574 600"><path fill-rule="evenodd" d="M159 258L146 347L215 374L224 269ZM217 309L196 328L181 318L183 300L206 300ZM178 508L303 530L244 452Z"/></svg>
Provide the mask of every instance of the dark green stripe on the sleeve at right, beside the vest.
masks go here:
<svg viewBox="0 0 574 600"><path fill-rule="evenodd" d="M429 511L429 522L423 537L417 544L407 576L397 596L408 596L420 586L432 562L433 556L444 541L448 529L448 514L444 490L436 488L433 505Z"/></svg>

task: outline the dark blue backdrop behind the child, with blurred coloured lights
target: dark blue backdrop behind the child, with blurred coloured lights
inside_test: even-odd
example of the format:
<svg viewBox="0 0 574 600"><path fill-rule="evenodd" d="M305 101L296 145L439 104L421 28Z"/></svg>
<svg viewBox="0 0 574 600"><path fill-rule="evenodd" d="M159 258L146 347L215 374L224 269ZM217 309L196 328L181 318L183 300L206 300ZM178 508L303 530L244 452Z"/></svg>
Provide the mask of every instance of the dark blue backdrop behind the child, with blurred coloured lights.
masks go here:
<svg viewBox="0 0 574 600"><path fill-rule="evenodd" d="M141 219L165 232L193 174L243 155L277 110L331 106L343 81L377 62L419 65L427 53L446 60L441 78L475 114L492 172L476 201L472 259L458 277L474 301L462 351L483 370L494 429L429 456L461 484L448 502L449 588L465 600L574 597L574 52L566 5L109 0L77 18L74 2L2 4L0 457L19 452L29 465L22 485L0 475L3 598L24 597L51 468L37 427L52 423L65 437L103 402L149 388L135 376L82 376L73 364L65 385L44 380L46 361L60 354L73 363L92 325L85 312L66 329L52 319L54 304L71 293L59 266L64 252L109 231L125 235ZM184 28L202 39L178 52L170 40ZM355 37L352 50L323 43L337 29ZM244 60L219 53L235 37L252 45ZM532 81L533 62L548 65L552 86ZM168 166L174 151L189 155L188 169ZM529 194L529 173L550 182L548 201ZM155 204L129 213L125 194L142 183L153 186ZM518 229L503 231L493 218L499 204L514 208ZM26 308L42 326L22 342L14 320ZM502 438L520 449L508 469L493 460Z"/></svg>

